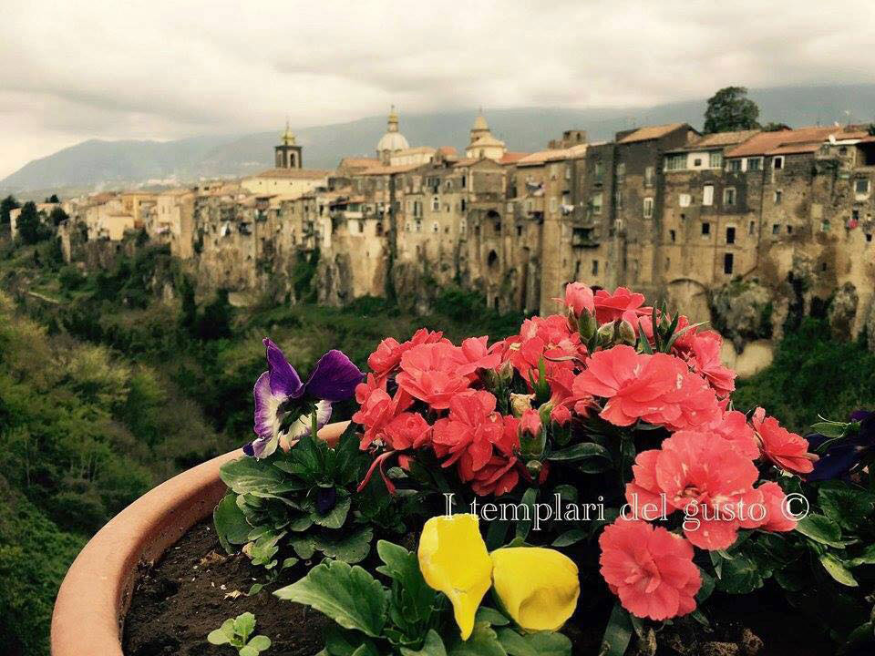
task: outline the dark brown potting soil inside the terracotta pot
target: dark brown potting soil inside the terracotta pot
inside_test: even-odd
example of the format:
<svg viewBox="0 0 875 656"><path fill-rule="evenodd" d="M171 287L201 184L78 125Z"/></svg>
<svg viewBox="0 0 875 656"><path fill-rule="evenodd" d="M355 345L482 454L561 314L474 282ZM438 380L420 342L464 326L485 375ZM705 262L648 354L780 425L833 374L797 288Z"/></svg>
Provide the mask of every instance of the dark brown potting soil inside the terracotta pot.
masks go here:
<svg viewBox="0 0 875 656"><path fill-rule="evenodd" d="M228 556L219 544L211 520L191 528L156 565L141 572L124 627L126 656L233 656L228 645L207 642L207 634L224 620L249 611L255 633L272 641L264 656L314 656L322 649L322 613L272 592L301 578L304 564L287 569L273 584L252 597L252 584L264 582L264 570L252 567L241 554ZM563 629L574 644L574 656L599 653L612 599L601 592L600 580L582 580L578 613ZM686 617L659 632L633 637L627 656L829 656L835 646L810 622L787 610L786 603L767 594L720 596L709 603L709 615L719 617L705 628Z"/></svg>

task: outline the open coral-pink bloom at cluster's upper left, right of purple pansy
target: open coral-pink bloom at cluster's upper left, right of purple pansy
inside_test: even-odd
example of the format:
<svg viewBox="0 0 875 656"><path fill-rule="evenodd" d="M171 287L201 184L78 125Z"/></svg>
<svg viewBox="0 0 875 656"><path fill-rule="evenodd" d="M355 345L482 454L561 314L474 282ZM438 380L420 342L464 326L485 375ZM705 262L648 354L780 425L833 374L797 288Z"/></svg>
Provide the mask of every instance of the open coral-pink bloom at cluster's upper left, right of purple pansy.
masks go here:
<svg viewBox="0 0 875 656"><path fill-rule="evenodd" d="M407 394L443 410L470 383L468 376L459 372L459 357L458 347L450 343L419 344L401 356L396 382Z"/></svg>

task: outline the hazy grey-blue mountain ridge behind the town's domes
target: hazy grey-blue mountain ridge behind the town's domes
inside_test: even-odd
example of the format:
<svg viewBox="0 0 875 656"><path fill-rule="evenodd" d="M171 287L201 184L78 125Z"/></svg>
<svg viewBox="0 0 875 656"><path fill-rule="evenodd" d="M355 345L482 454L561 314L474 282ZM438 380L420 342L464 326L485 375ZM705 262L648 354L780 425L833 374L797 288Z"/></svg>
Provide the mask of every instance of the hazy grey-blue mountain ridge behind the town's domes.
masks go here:
<svg viewBox="0 0 875 656"><path fill-rule="evenodd" d="M821 85L751 89L760 108L760 122L791 126L868 122L875 116L875 85ZM701 128L705 99L664 103L648 108L509 108L487 109L493 134L510 150L532 152L564 129L586 129L591 141L607 140L614 132L645 124L687 122ZM453 110L401 114L401 131L411 146L455 146L468 143L468 129L477 112ZM178 183L201 178L241 176L272 166L273 146L282 127L271 131L200 136L169 141L91 138L75 146L34 159L5 179L4 192L29 190L112 189L152 180ZM304 166L333 168L349 156L373 156L376 141L386 131L385 117L357 118L297 130L304 146Z"/></svg>

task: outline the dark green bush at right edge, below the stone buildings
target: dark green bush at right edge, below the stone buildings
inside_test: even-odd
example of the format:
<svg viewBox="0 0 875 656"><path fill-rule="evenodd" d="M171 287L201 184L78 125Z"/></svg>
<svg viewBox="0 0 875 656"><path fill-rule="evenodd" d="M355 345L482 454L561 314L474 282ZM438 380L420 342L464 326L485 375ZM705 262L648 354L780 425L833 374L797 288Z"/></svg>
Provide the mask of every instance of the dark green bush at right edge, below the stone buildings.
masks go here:
<svg viewBox="0 0 875 656"><path fill-rule="evenodd" d="M747 412L761 405L790 430L805 434L818 422L818 412L847 417L875 407L875 354L860 343L832 338L825 322L809 318L785 334L770 366L737 387L736 408Z"/></svg>

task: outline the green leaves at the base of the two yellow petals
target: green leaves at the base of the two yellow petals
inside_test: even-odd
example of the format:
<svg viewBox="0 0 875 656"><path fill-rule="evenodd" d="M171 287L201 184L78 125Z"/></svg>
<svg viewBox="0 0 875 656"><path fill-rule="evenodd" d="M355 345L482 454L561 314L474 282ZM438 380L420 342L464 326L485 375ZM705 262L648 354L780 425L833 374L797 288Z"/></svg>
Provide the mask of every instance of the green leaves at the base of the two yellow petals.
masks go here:
<svg viewBox="0 0 875 656"><path fill-rule="evenodd" d="M377 543L377 554L383 565L376 572L388 579L388 588L366 569L329 559L273 593L335 620L324 636L325 656L571 656L571 641L560 633L522 635L487 607L462 641L447 598L428 587L416 554L385 540Z"/></svg>

